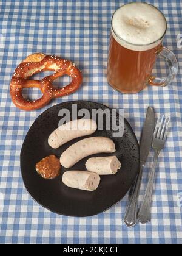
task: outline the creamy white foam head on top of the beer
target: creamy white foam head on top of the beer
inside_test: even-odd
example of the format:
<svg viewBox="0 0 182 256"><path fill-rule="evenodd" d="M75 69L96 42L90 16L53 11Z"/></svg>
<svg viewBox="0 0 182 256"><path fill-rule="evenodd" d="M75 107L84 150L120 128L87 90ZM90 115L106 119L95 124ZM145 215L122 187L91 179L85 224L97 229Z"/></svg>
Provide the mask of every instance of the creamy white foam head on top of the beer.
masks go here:
<svg viewBox="0 0 182 256"><path fill-rule="evenodd" d="M132 2L113 14L112 35L122 46L134 51L152 49L166 32L166 19L154 6Z"/></svg>

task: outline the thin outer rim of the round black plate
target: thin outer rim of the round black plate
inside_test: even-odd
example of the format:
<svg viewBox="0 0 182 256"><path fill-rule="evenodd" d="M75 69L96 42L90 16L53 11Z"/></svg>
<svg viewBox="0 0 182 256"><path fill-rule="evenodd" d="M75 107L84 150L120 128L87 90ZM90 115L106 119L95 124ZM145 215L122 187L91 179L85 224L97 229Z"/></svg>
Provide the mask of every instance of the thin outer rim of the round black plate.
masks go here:
<svg viewBox="0 0 182 256"><path fill-rule="evenodd" d="M85 102L85 103L86 103L86 102L89 102L89 103L91 103L91 104L92 104L92 103L94 103L94 104L99 104L99 105L101 105L101 106L103 106L103 107L107 107L107 108L109 108L109 109L111 110L110 107L108 107L107 105L101 104L101 103L99 103L99 102L78 100L78 101L66 101L66 102L61 102L61 103L59 103L59 104L53 105L52 107L47 108L47 109L46 109L44 112L42 112L41 115L39 115L39 116L42 116L45 112L48 112L48 111L50 110L50 108L53 108L53 107L55 107L55 106L58 107L58 106L61 105L62 103L64 103L64 104L66 104L66 103L69 103L69 104L76 104L76 102L77 102L77 103L78 103L78 102ZM39 118L39 116L37 116L36 119ZM36 122L36 119L35 119L35 121L33 121L32 125L29 127L29 130L30 130L30 128L33 126L33 124ZM139 146L138 140L137 140L137 138L136 138L135 132L133 131L132 126L130 126L130 124L129 124L129 122L127 121L126 118L124 118L124 122L126 122L127 126L130 127L130 130L131 130L131 132L132 132L132 134L133 134L133 138L135 138L136 145L137 145L137 147L138 147L138 153L139 153L138 172L139 172L139 167L140 167L140 146ZM24 138L24 141L26 140L27 136L29 135L29 130L28 130L28 132L27 132L27 134L26 134L26 136L25 136L25 138ZM24 144L24 141L23 141L22 145ZM21 153L20 153L20 167L22 166L22 165L21 165L21 159L22 159L21 155L22 155L22 148L21 148ZM136 176L138 175L138 172L136 172ZM133 178L133 182L135 181L136 176ZM59 212L56 212L55 210L51 210L49 207L45 207L45 206L42 205L40 202L36 201L35 198L33 198L32 194L30 194L29 190L27 189L27 186L25 185L24 177L23 177L23 174L22 174L22 168L21 168L21 177L22 177L22 180L23 180L23 183L24 183L24 187L25 187L25 189L27 190L28 194L29 194L30 197L33 199L33 201L35 201L38 205L41 205L41 207L43 207L43 208L45 208L46 210L49 210L50 212L55 213L55 214L57 214L57 215L60 215L60 216L67 216L67 217L74 217L74 218L86 218L86 217L92 217L92 216L99 215L100 213L104 213L104 212L106 212L107 210L109 210L110 208L112 208L113 206L115 206L116 204L118 204L118 203L124 198L124 196L126 196L126 194L128 193L128 191L130 190L130 188L129 188L129 190L126 192L126 194L125 194L120 200L118 200L118 201L115 202L114 204L110 205L110 207L108 207L108 208L106 208L105 210L103 210L103 211L101 211L101 212L98 212L98 213L96 213L96 214L94 214L94 215L85 215L85 216L65 215L64 213L59 213ZM133 184L133 182L132 182L132 184Z"/></svg>

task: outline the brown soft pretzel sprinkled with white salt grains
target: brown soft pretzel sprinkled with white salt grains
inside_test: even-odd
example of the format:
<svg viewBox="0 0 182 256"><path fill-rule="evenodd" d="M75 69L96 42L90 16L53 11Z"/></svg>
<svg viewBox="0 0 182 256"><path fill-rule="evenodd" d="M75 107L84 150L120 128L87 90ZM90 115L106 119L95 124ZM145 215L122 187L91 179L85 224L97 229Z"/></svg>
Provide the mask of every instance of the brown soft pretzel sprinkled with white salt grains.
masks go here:
<svg viewBox="0 0 182 256"><path fill-rule="evenodd" d="M55 73L44 77L41 81L29 80L33 74L47 70ZM72 77L72 82L60 89L53 87L53 81L64 74ZM70 60L55 55L35 53L29 55L15 69L10 82L10 95L16 107L22 110L35 110L47 105L52 98L62 97L78 90L81 82L81 71ZM25 99L22 96L22 90L30 87L39 88L43 94L42 97L35 101Z"/></svg>

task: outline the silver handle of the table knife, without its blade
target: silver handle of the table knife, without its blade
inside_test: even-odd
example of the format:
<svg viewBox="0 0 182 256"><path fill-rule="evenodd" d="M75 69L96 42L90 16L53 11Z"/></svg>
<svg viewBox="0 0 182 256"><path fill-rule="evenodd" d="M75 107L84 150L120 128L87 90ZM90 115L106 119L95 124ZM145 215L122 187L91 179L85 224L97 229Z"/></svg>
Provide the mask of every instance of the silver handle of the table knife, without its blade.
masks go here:
<svg viewBox="0 0 182 256"><path fill-rule="evenodd" d="M133 227L136 225L137 212L138 212L138 197L140 194L141 178L143 174L144 165L140 165L138 176L130 191L130 201L127 205L126 213L124 215L124 223L127 227Z"/></svg>

